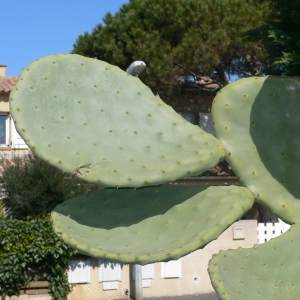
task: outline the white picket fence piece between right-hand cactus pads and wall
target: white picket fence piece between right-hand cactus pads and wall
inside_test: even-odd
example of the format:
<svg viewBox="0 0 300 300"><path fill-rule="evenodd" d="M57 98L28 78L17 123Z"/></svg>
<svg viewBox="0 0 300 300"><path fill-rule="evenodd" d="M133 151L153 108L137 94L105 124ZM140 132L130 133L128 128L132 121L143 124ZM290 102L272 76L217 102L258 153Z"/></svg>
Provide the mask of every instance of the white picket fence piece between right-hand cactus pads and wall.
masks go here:
<svg viewBox="0 0 300 300"><path fill-rule="evenodd" d="M285 233L291 225L284 222L279 223L258 223L257 240L259 244L263 244L272 238Z"/></svg>

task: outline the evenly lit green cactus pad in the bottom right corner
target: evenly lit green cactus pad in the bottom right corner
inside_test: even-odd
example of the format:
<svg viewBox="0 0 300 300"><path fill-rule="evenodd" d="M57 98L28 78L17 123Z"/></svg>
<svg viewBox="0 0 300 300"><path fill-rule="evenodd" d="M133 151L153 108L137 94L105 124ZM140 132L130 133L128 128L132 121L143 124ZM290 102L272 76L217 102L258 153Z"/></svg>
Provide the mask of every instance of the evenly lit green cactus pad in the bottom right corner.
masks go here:
<svg viewBox="0 0 300 300"><path fill-rule="evenodd" d="M220 251L209 262L221 300L299 299L300 224L252 249Z"/></svg>

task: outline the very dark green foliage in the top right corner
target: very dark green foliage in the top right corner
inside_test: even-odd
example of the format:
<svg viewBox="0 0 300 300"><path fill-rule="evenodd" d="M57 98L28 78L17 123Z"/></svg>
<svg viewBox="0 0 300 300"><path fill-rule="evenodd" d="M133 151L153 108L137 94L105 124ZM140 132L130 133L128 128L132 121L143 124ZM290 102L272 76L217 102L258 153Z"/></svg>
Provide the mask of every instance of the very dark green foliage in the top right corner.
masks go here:
<svg viewBox="0 0 300 300"><path fill-rule="evenodd" d="M269 63L267 74L300 73L300 1L272 0L265 24L248 32L249 40L261 40Z"/></svg>

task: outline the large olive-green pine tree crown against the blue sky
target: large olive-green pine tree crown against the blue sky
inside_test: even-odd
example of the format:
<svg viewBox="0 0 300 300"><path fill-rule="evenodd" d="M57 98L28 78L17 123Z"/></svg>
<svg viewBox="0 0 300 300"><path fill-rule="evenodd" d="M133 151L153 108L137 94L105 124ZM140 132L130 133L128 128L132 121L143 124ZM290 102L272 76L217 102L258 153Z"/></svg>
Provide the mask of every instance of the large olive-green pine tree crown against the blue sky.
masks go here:
<svg viewBox="0 0 300 300"><path fill-rule="evenodd" d="M268 1L258 0L130 0L80 35L73 53L124 70L145 61L141 79L166 102L183 92L215 93L230 73L259 74L260 47L241 34L267 12Z"/></svg>

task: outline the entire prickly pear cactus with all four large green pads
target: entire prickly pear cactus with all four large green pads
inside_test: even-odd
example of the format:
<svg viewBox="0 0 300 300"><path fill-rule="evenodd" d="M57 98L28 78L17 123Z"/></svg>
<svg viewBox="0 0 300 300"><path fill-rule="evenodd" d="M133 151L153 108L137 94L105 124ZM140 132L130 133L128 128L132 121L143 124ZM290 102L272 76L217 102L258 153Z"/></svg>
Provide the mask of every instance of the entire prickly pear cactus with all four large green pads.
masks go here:
<svg viewBox="0 0 300 300"><path fill-rule="evenodd" d="M34 153L110 187L54 209L53 228L67 244L113 261L177 259L216 239L256 199L295 225L266 245L216 254L212 284L223 300L300 294L299 78L248 78L223 88L212 108L218 139L138 78L79 55L34 61L22 71L10 105ZM164 184L202 173L225 153L245 187Z"/></svg>

